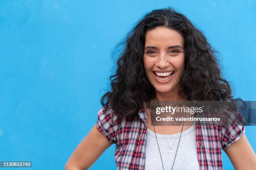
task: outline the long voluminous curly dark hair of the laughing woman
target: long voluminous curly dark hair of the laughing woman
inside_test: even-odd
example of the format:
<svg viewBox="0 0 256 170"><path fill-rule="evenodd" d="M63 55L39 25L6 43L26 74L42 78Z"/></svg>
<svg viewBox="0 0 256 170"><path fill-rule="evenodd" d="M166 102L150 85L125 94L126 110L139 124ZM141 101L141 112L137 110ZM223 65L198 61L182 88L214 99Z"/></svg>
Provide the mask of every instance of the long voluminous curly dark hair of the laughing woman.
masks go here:
<svg viewBox="0 0 256 170"><path fill-rule="evenodd" d="M218 51L186 16L167 7L147 13L121 42L125 47L115 75L110 76L111 90L101 98L105 109L110 106L119 118L134 118L143 103L156 96L144 70L143 51L146 32L159 26L176 30L184 38L185 61L179 95L186 95L188 101L235 100L228 81L220 74L215 54Z"/></svg>

